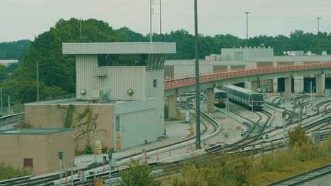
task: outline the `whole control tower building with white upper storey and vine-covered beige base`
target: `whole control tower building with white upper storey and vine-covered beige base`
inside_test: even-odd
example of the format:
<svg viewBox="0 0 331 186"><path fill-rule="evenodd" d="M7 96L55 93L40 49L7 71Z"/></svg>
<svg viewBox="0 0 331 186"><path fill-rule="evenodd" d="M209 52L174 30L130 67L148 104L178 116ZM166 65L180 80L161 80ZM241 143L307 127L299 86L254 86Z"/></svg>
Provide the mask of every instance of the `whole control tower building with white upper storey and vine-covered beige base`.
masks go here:
<svg viewBox="0 0 331 186"><path fill-rule="evenodd" d="M25 121L72 126L78 150L93 147L93 123L98 140L115 150L155 141L164 135L168 53L175 43L64 43L63 54L76 56L76 99L25 104Z"/></svg>

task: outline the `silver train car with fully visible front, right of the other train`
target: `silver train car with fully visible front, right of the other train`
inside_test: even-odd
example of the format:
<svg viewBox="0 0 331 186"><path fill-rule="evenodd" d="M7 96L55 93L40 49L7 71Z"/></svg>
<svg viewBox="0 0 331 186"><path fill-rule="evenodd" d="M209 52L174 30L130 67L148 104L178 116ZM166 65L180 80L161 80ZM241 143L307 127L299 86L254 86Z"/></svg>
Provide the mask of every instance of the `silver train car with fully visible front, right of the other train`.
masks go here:
<svg viewBox="0 0 331 186"><path fill-rule="evenodd" d="M226 91L228 99L249 106L250 108L260 109L265 104L263 94L250 89L244 89L235 85L226 85L223 86L223 89Z"/></svg>

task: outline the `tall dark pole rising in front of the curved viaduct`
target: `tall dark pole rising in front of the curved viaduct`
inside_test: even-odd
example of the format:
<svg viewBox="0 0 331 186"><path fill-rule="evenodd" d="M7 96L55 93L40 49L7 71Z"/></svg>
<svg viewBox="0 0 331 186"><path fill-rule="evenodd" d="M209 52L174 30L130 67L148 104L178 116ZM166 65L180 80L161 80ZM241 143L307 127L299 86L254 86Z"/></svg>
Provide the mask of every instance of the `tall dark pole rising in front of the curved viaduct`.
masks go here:
<svg viewBox="0 0 331 186"><path fill-rule="evenodd" d="M199 91L199 54L198 54L197 0L194 0L194 45L195 45L195 125L197 128L197 149L200 142L200 91Z"/></svg>

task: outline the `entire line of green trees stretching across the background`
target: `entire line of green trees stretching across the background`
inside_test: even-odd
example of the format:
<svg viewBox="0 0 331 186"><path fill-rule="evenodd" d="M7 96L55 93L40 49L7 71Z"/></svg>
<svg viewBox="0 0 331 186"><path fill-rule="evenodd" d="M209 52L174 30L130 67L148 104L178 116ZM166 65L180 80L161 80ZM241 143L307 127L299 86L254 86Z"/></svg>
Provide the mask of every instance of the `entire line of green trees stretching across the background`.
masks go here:
<svg viewBox="0 0 331 186"><path fill-rule="evenodd" d="M82 27L80 32L80 25ZM149 35L141 35L127 27L114 30L101 20L71 18L57 23L30 42L0 43L0 59L17 58L20 62L5 70L0 67L0 83L4 94L10 94L13 104L36 100L36 63L40 72L40 99L56 97L76 91L75 58L62 54L64 42L149 42ZM175 42L177 53L168 59L194 58L194 35L187 30L175 30L165 34L153 34L153 42ZM331 33L317 35L301 30L291 32L289 37L260 35L248 41L233 35L199 35L199 58L220 54L221 48L245 46L271 46L275 55L284 51L303 50L331 54ZM1 72L4 75L1 75Z"/></svg>

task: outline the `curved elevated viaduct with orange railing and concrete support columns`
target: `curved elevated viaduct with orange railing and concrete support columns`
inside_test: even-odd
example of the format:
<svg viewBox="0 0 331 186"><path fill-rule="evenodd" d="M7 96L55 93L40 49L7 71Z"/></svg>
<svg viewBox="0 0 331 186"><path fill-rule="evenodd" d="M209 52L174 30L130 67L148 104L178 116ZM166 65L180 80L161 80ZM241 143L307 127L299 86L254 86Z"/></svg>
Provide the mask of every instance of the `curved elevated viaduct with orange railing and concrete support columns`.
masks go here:
<svg viewBox="0 0 331 186"><path fill-rule="evenodd" d="M241 68L200 73L200 90L207 92L207 112L214 111L214 87L240 82L254 82L285 78L285 98L291 99L291 77L313 75L316 77L317 97L323 96L323 74L331 73L331 62L261 68ZM164 96L169 98L169 118L176 117L176 95L194 91L194 75L166 78Z"/></svg>

